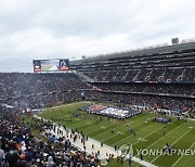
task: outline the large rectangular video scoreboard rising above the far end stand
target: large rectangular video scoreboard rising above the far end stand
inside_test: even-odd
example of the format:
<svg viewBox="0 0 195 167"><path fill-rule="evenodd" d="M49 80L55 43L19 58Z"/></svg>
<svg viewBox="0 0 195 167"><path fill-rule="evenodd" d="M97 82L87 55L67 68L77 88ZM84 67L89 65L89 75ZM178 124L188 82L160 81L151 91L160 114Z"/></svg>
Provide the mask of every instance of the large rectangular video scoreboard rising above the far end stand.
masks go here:
<svg viewBox="0 0 195 167"><path fill-rule="evenodd" d="M34 72L69 70L69 60L34 60Z"/></svg>

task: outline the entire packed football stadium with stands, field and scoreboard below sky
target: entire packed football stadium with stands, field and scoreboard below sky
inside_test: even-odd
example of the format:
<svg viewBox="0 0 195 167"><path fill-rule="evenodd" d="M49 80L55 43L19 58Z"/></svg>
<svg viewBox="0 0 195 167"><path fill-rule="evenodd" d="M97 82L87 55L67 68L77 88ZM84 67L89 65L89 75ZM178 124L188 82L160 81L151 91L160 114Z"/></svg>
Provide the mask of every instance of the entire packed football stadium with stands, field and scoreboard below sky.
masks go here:
<svg viewBox="0 0 195 167"><path fill-rule="evenodd" d="M186 42L1 73L4 164L193 167L194 62Z"/></svg>

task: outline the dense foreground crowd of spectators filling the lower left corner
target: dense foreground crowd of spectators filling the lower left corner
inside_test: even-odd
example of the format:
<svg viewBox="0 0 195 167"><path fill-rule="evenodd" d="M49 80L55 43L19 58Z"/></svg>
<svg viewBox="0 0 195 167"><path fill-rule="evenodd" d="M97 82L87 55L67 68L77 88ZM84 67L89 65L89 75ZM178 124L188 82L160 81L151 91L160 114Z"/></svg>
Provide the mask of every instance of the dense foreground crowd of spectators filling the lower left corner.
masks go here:
<svg viewBox="0 0 195 167"><path fill-rule="evenodd" d="M57 143L50 139L37 139L30 128L42 133L46 128L55 127L38 119L24 123L20 115L15 108L0 108L0 167L99 166L98 154L90 155L78 150L66 138Z"/></svg>

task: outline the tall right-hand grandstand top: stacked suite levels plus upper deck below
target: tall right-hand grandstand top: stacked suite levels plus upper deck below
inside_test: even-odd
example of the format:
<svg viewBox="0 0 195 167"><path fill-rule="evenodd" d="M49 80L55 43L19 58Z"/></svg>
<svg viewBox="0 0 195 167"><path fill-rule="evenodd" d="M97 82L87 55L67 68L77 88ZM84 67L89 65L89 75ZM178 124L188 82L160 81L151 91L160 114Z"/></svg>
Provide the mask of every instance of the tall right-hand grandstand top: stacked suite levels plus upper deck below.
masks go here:
<svg viewBox="0 0 195 167"><path fill-rule="evenodd" d="M195 81L195 42L99 55L70 62L93 81Z"/></svg>

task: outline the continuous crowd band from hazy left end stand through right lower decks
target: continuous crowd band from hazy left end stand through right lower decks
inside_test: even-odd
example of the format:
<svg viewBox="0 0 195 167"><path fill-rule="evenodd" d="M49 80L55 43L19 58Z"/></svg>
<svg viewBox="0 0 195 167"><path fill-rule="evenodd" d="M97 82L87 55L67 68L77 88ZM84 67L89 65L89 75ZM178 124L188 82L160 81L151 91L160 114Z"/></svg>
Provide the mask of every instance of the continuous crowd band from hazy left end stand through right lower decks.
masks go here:
<svg viewBox="0 0 195 167"><path fill-rule="evenodd" d="M84 84L75 74L0 73L0 103L41 108L98 100L195 112L194 84Z"/></svg>

